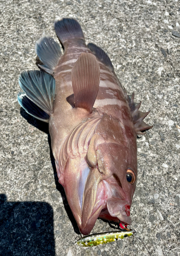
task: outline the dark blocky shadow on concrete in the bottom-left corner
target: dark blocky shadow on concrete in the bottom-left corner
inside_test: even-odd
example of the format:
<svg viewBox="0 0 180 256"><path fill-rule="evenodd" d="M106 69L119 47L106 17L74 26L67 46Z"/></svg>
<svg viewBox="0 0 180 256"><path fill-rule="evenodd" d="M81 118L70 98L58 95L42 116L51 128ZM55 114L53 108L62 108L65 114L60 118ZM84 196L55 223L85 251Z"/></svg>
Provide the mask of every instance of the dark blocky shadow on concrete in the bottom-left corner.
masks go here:
<svg viewBox="0 0 180 256"><path fill-rule="evenodd" d="M55 256L52 207L44 202L8 202L1 194L0 255Z"/></svg>

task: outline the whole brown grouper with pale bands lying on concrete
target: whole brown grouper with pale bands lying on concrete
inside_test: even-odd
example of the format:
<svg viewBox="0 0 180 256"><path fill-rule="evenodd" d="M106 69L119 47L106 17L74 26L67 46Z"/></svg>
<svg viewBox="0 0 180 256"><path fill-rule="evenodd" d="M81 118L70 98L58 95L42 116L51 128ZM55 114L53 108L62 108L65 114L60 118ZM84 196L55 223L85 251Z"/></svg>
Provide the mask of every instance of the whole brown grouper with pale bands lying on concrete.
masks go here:
<svg viewBox="0 0 180 256"><path fill-rule="evenodd" d="M59 43L36 42L40 70L19 76L18 102L49 122L59 183L82 234L97 218L130 225L137 183L137 134L150 129L127 95L107 54L85 44L76 19L55 22Z"/></svg>

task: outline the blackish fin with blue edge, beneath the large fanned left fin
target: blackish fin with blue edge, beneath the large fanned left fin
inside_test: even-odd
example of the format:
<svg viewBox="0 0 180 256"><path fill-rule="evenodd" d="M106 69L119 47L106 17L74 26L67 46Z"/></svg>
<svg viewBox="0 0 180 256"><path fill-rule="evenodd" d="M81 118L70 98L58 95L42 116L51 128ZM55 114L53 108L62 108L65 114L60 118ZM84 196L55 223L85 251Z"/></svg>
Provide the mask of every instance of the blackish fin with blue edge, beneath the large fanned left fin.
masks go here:
<svg viewBox="0 0 180 256"><path fill-rule="evenodd" d="M43 122L49 122L49 115L34 104L34 102L26 96L26 93L18 93L17 100L19 105L26 110L28 114Z"/></svg>

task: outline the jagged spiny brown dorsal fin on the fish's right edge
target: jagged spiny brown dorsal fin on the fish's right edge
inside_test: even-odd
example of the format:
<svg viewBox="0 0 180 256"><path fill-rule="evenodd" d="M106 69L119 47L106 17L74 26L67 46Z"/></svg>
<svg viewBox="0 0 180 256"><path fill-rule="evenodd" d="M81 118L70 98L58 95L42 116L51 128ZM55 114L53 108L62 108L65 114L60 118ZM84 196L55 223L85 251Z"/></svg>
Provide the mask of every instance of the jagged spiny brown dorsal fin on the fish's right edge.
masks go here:
<svg viewBox="0 0 180 256"><path fill-rule="evenodd" d="M153 125L150 126L143 121L143 119L149 114L150 111L148 112L139 111L139 108L141 106L141 101L136 104L134 103L134 93L132 94L132 96L129 96L127 95L127 92L125 89L124 89L124 93L131 111L132 120L134 123L134 130L137 134L144 134L142 133L142 131L149 130L153 127Z"/></svg>

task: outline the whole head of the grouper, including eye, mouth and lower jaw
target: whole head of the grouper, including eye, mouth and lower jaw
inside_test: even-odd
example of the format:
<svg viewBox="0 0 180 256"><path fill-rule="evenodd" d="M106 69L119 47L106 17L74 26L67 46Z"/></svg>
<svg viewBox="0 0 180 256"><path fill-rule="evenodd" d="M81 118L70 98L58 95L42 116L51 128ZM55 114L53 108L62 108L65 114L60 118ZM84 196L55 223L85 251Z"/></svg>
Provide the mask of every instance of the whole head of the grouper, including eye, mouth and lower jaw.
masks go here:
<svg viewBox="0 0 180 256"><path fill-rule="evenodd" d="M98 217L130 224L136 180L136 135L131 126L125 127L107 115L96 126L87 151L69 157L59 176L80 232L85 235Z"/></svg>

